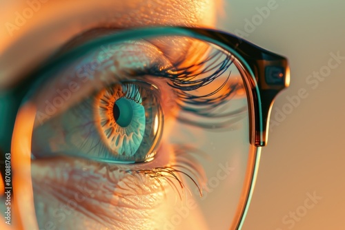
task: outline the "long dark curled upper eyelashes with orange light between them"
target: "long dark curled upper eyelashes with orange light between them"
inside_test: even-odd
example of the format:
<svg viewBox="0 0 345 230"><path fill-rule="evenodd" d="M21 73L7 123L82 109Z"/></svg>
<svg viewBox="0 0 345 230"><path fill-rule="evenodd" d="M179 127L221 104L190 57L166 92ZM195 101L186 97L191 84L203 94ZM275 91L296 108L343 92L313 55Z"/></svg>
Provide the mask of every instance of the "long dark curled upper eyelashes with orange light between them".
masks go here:
<svg viewBox="0 0 345 230"><path fill-rule="evenodd" d="M221 58L223 58L223 60L219 61ZM215 79L218 79L219 76L224 74L224 72L233 65L233 60L233 55L224 54L221 50L217 50L214 54L210 55L208 59L195 63L194 65L189 65L188 67L181 67L182 61L179 61L175 63L175 66L172 68L161 70L159 66L154 66L145 72L135 72L135 76L149 75L168 79L170 82L167 84L174 89L177 97L176 103L179 109L184 112L208 118L214 116L212 114L213 109L225 103L226 100L224 99L235 96L237 90L243 89L243 85L238 81L229 82L230 74L232 74L232 72L229 71L224 82L213 90L213 92L199 96L188 92L198 90L201 87L213 83ZM197 71L193 71L196 67ZM198 79L199 76L208 74L209 72L212 73ZM226 92L219 96L215 96L215 94L224 89L227 83L230 85L228 85ZM242 112L243 110L239 110L237 113L233 113L233 115L241 114ZM181 122L188 123L184 118L180 117L178 119ZM208 126L203 123L195 123L194 125L204 128Z"/></svg>

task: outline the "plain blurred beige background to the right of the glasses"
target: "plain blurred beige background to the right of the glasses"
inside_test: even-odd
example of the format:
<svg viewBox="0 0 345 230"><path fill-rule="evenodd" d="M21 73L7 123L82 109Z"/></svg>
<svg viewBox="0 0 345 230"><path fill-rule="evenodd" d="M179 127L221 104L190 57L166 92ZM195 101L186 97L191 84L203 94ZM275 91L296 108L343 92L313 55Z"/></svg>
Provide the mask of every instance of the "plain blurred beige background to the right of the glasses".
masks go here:
<svg viewBox="0 0 345 230"><path fill-rule="evenodd" d="M267 4L226 0L218 28L245 31L244 19L251 21L255 8ZM277 98L273 118L286 96L304 88L308 97L271 129L245 230L345 229L345 60L315 90L306 83L313 71L324 70L331 52L345 56L344 13L345 1L277 0L277 9L246 37L290 61L291 85ZM304 201L314 192L322 198L307 209ZM289 215L296 211L300 216L293 220Z"/></svg>

